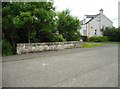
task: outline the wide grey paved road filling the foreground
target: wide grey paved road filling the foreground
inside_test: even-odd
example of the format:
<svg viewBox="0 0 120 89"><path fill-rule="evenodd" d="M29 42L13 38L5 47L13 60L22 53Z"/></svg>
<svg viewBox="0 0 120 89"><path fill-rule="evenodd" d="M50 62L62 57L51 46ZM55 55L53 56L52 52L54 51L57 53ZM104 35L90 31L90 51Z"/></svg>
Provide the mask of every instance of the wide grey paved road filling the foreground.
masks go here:
<svg viewBox="0 0 120 89"><path fill-rule="evenodd" d="M118 87L117 44L24 54L3 60L3 87Z"/></svg>

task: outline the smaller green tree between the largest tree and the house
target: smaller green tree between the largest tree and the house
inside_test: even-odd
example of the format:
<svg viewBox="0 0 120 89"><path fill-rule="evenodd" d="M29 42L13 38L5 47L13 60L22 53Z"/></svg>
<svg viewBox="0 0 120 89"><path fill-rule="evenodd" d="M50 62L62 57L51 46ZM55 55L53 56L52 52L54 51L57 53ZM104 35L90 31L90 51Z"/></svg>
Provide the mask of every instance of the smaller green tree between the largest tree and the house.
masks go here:
<svg viewBox="0 0 120 89"><path fill-rule="evenodd" d="M69 10L58 13L57 30L67 41L80 40L80 21L76 17L71 16Z"/></svg>

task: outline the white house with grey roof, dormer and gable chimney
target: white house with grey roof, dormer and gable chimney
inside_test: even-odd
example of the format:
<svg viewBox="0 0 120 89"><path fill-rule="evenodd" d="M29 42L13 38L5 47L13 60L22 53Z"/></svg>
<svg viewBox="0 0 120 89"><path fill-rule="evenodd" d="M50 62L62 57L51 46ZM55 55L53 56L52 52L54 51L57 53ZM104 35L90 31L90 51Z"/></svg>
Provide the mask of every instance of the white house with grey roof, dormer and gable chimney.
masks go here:
<svg viewBox="0 0 120 89"><path fill-rule="evenodd" d="M82 36L102 36L101 29L112 27L113 22L103 14L103 9L96 15L85 15L81 21L80 33Z"/></svg>

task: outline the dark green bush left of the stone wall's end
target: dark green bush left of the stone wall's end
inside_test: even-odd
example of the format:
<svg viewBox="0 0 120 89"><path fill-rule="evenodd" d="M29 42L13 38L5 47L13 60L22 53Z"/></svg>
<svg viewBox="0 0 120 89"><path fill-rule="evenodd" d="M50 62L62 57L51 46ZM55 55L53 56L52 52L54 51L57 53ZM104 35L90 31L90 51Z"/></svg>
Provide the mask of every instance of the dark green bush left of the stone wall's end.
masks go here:
<svg viewBox="0 0 120 89"><path fill-rule="evenodd" d="M8 56L13 54L14 54L14 47L7 40L2 40L2 55Z"/></svg>

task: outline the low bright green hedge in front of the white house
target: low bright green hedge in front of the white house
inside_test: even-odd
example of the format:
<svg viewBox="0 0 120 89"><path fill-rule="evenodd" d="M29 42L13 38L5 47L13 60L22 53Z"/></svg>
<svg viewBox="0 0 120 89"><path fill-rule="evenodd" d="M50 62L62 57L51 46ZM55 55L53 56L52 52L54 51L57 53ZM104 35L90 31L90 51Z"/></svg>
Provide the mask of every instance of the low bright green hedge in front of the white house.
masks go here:
<svg viewBox="0 0 120 89"><path fill-rule="evenodd" d="M107 42L109 39L107 36L93 36L89 37L90 42Z"/></svg>

